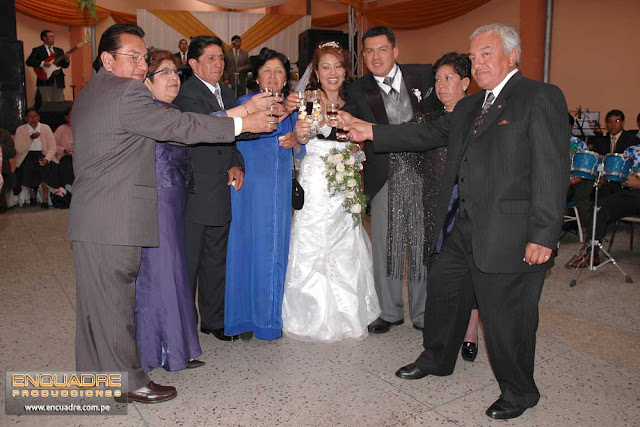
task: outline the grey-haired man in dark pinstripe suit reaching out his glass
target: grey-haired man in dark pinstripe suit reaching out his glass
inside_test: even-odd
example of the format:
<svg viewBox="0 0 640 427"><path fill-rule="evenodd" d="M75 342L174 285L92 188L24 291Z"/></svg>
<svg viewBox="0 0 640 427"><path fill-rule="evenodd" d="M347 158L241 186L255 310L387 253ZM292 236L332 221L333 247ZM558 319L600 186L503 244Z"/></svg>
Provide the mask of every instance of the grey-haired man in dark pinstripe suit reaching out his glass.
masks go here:
<svg viewBox="0 0 640 427"><path fill-rule="evenodd" d="M533 379L538 301L569 184L567 105L560 89L518 71L520 38L511 27L478 28L469 57L484 90L453 113L427 124L347 128L354 140L373 140L377 152L448 146L435 229L444 224L456 182L460 207L429 274L425 350L396 375L453 373L475 295L502 391L486 413L507 419L540 398Z"/></svg>

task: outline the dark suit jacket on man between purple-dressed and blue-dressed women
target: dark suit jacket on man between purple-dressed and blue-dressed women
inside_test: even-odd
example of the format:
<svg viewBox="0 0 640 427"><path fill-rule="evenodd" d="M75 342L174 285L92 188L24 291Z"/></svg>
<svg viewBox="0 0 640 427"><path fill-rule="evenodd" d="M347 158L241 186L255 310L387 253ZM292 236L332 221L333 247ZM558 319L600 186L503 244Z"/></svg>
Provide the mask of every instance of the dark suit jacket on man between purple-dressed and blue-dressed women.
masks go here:
<svg viewBox="0 0 640 427"><path fill-rule="evenodd" d="M226 108L235 106L231 89L220 84L222 101ZM210 114L220 108L216 97L197 77L193 76L180 88L174 103L182 111ZM228 170L239 166L244 170L242 154L235 142L191 148L195 189L187 197L187 221L204 225L224 225L231 221L231 193L227 185Z"/></svg>

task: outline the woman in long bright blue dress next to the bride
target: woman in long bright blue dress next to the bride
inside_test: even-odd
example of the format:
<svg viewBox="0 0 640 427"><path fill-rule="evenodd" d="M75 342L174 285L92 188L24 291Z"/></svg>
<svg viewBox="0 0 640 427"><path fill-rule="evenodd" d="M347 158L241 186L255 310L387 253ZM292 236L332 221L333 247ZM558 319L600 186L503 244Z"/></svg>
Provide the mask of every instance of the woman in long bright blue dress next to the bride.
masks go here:
<svg viewBox="0 0 640 427"><path fill-rule="evenodd" d="M289 60L271 49L258 57L261 90L282 93L290 77ZM255 94L238 99L246 103ZM271 133L258 140L238 141L245 163L244 187L231 192L231 229L225 287L226 335L274 340L282 334L282 297L291 228L293 156L304 156L292 133L296 114L288 106L274 118ZM279 123L278 123L279 122Z"/></svg>

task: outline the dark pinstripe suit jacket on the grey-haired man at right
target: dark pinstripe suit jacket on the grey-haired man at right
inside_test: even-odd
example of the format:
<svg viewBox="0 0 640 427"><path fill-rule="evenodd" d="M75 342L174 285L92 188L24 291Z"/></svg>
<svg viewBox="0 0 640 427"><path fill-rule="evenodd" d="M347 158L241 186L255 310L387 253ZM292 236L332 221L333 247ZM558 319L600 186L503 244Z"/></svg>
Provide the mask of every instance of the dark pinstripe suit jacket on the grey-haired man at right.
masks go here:
<svg viewBox="0 0 640 427"><path fill-rule="evenodd" d="M462 162L470 162L470 191L462 194L472 226L473 259L485 273L549 268L522 261L527 243L555 249L569 185L567 104L556 86L516 73L478 130L473 121L484 91L458 102L453 113L426 124L374 126L376 151L424 151L448 146L436 227L444 224ZM468 147L468 152L467 152ZM435 246L435 242L434 242ZM432 247L433 251L433 247Z"/></svg>

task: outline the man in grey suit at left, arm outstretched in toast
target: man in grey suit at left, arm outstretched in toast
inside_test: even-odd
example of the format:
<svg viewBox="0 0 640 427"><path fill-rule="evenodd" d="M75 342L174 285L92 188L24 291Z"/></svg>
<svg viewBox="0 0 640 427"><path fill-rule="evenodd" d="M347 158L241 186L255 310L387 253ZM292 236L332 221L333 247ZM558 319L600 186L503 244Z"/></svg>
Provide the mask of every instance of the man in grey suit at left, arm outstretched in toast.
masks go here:
<svg viewBox="0 0 640 427"><path fill-rule="evenodd" d="M75 101L69 239L76 269L76 370L127 372L128 401L153 403L177 395L149 380L134 338L141 247L158 245L155 141L228 143L242 131L268 132L269 116L216 118L158 106L142 83L143 37L136 25L108 28L98 47L101 69Z"/></svg>

